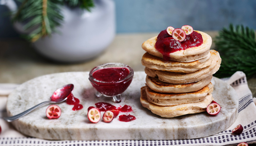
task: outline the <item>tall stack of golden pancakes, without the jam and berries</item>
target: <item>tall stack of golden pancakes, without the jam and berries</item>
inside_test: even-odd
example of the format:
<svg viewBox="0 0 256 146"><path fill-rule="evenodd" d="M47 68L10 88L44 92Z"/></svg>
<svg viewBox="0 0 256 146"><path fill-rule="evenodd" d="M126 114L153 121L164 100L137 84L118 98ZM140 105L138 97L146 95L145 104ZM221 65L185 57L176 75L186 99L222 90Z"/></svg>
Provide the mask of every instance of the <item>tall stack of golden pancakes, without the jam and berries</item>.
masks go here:
<svg viewBox="0 0 256 146"><path fill-rule="evenodd" d="M157 36L142 44L146 51L141 63L145 66L146 86L141 88L141 104L162 117L206 111L213 100L213 74L219 70L219 52L210 50L212 38L197 31L203 44L170 53L170 60L155 49Z"/></svg>

